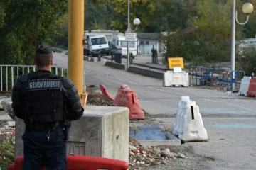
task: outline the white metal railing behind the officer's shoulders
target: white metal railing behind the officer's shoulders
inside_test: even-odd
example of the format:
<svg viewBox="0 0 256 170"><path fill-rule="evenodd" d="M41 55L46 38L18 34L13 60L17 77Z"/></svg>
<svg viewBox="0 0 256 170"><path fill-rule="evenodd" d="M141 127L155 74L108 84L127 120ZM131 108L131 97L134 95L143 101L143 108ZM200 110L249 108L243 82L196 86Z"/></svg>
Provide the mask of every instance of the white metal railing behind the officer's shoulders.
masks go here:
<svg viewBox="0 0 256 170"><path fill-rule="evenodd" d="M10 92L14 86L14 81L22 74L27 74L31 71L36 71L34 65L0 65L0 91ZM51 72L61 77L68 77L68 67L52 66ZM83 90L85 91L85 70L83 73Z"/></svg>

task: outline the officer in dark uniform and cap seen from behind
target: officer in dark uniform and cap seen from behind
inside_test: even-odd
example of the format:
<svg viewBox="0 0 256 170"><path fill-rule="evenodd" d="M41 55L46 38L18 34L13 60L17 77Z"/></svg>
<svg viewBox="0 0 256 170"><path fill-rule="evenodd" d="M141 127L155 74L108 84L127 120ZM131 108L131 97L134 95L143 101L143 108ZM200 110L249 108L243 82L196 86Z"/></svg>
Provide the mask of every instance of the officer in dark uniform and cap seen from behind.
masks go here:
<svg viewBox="0 0 256 170"><path fill-rule="evenodd" d="M73 81L50 72L53 53L45 43L33 62L36 72L18 77L11 96L16 117L26 125L23 169L64 170L67 122L81 118L84 110Z"/></svg>

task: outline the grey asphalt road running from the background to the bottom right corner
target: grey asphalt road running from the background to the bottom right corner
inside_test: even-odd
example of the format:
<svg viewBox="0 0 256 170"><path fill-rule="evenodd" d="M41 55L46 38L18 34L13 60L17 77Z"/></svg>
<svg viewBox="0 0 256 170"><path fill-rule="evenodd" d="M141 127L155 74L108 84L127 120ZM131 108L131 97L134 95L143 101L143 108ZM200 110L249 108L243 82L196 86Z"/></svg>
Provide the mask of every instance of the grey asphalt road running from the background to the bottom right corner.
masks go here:
<svg viewBox="0 0 256 170"><path fill-rule="evenodd" d="M68 66L65 53L54 53L58 66ZM163 87L159 79L143 77L104 66L105 61L84 62L86 84L104 84L114 97L120 84L133 89L149 114L174 115L181 96L196 101L209 142L188 142L196 154L213 157L202 169L256 169L255 99L196 87ZM166 126L171 127L171 121Z"/></svg>

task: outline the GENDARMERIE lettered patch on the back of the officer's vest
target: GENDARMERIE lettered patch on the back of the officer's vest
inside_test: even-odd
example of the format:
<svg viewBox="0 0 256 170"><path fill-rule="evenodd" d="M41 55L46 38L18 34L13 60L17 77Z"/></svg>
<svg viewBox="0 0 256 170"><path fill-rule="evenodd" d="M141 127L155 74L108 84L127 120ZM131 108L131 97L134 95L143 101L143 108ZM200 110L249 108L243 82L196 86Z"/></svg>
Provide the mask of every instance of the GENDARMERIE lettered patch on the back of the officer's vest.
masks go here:
<svg viewBox="0 0 256 170"><path fill-rule="evenodd" d="M36 79L28 81L29 91L60 90L62 83L60 79Z"/></svg>

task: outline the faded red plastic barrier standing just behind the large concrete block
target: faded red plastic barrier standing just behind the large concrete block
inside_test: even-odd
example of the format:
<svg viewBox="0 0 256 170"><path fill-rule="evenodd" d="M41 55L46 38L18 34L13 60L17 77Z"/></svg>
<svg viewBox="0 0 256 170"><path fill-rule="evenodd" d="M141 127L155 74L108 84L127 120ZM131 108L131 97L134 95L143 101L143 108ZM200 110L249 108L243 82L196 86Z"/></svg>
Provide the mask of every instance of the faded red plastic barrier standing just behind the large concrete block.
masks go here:
<svg viewBox="0 0 256 170"><path fill-rule="evenodd" d="M113 105L129 108L129 120L144 119L144 112L139 104L137 94L125 84L119 87Z"/></svg>

